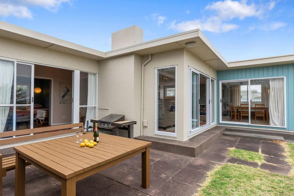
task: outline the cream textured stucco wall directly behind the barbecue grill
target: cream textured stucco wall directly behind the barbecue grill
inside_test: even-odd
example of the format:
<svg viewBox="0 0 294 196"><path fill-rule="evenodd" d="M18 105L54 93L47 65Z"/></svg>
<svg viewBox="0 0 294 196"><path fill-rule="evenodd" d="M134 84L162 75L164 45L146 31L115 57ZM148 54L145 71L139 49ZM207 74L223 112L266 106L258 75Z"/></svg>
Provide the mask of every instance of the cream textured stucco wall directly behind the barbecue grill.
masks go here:
<svg viewBox="0 0 294 196"><path fill-rule="evenodd" d="M124 114L126 120L137 121L133 135L139 136L140 105L141 57L131 54L99 61L98 113L106 110L108 114ZM127 132L121 130L119 135L127 136Z"/></svg>

